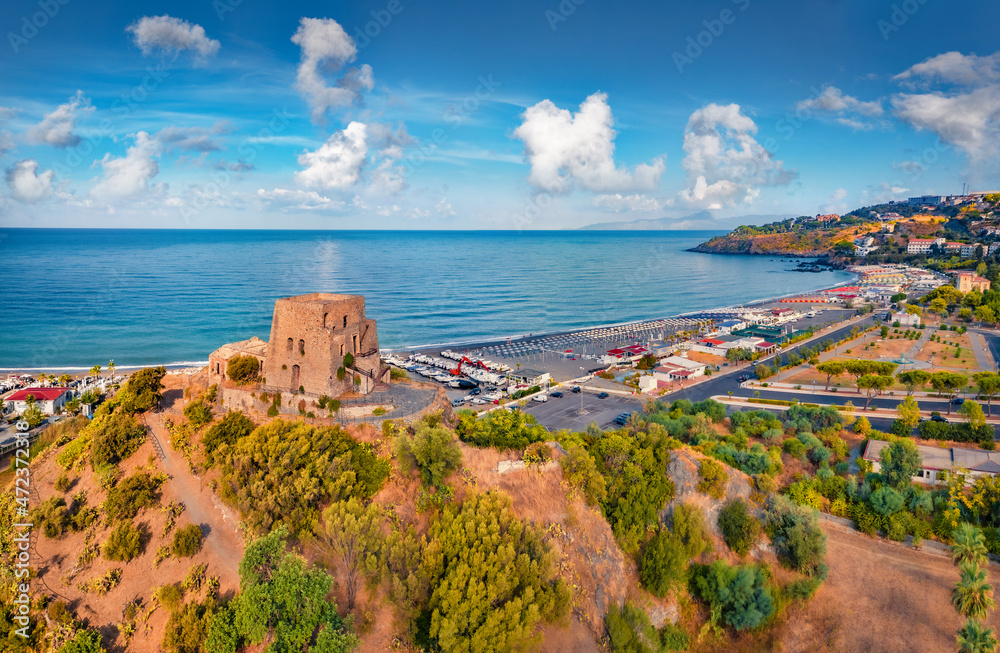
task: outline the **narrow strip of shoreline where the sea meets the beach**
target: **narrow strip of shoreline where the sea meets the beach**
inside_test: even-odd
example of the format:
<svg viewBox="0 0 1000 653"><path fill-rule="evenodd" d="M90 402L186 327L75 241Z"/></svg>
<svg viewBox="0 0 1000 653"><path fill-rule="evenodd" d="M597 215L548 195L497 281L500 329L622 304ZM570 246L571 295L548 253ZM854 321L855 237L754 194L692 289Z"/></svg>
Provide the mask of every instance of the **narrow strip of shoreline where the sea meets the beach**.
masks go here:
<svg viewBox="0 0 1000 653"><path fill-rule="evenodd" d="M755 256L755 255L750 254L750 255L747 255L747 256ZM805 257L805 258L814 258L814 257ZM392 353L401 353L401 352L442 351L442 350L445 350L445 349L466 349L466 350L468 350L468 349L478 349L478 348L482 348L482 347L489 347L491 345L502 345L502 344L505 344L508 340L510 340L511 342L527 342L527 341L530 341L530 340L533 340L533 339L536 339L536 338L543 338L543 337L549 337L549 336L560 336L560 335L571 335L571 334L581 333L581 332L584 332L584 331L589 331L591 329L608 329L608 328L622 327L622 326L641 325L641 324L646 324L646 323L650 323L650 322L657 322L659 320L690 319L691 315L696 315L696 314L699 314L699 313L710 313L710 312L723 311L723 310L728 310L728 309L733 309L733 308L747 308L747 307L754 307L754 306L762 306L762 305L770 304L770 303L773 303L773 302L778 302L778 301L780 301L780 300L782 300L782 299L784 299L786 297L794 297L794 296L797 296L797 295L803 295L803 294L809 294L809 293L819 293L819 292L823 292L825 290L829 290L831 288L837 288L839 286L843 286L843 285L846 285L846 284L856 283L861 278L860 275L858 275L855 272L851 272L849 270L838 270L838 272L848 273L848 274L851 275L852 279L845 280L845 281L843 281L841 283L837 283L837 284L833 284L833 285L824 284L824 285L822 285L819 288L816 288L814 290L805 290L805 291L799 291L799 292L793 292L793 293L785 293L785 294L782 294L782 295L773 295L773 296L765 297L765 298L762 298L762 299L755 299L755 300L752 300L752 301L749 301L749 302L742 302L742 303L739 303L739 304L730 304L730 305L716 307L716 308L699 309L699 310L694 310L694 311L688 311L688 312L685 312L685 313L678 313L676 315L659 316L659 317L648 317L648 318L644 318L644 319L641 319L641 320L630 320L630 321L624 321L624 322L613 322L613 323L608 323L608 324L590 325L590 326L584 326L584 327L580 327L580 328L572 329L572 330L545 331L545 332L539 332L539 333L531 333L531 334L527 334L527 335L521 333L521 334L516 334L516 335L497 336L497 337L490 337L490 336L484 336L484 337L481 337L481 338L471 337L471 338L469 338L467 340L466 339L453 340L451 342L443 342L443 343L430 343L430 344L421 344L421 345L407 345L407 346L401 346L401 347L386 347L386 348L382 348L381 351L384 352L384 353L392 354ZM170 362L170 363L150 363L150 364L147 364L147 365L124 365L123 364L123 365L116 365L115 369L118 370L118 371L124 372L124 371L140 370L140 369L143 369L143 368L146 368L146 367L157 367L159 365L163 365L163 367L165 367L168 371L169 370L187 369L187 368L203 368L203 367L205 367L205 366L208 365L208 360L204 360L204 361L174 361L174 362ZM8 374L8 375L9 374L31 374L31 373L34 372L34 373L45 373L45 374L53 374L53 373L59 374L59 373L62 373L62 374L71 374L73 376L77 376L77 375L86 376L86 373L89 372L89 370L90 370L89 367L84 367L84 366L0 367L0 374ZM102 372L103 371L105 371L105 370L102 369Z"/></svg>

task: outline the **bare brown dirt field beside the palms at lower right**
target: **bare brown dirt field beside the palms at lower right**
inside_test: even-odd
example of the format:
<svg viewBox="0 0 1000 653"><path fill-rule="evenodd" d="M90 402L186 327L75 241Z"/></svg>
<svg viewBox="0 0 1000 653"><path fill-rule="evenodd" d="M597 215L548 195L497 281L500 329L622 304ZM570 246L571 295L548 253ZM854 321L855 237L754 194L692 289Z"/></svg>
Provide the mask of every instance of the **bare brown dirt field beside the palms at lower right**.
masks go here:
<svg viewBox="0 0 1000 653"><path fill-rule="evenodd" d="M790 625L786 651L950 651L961 625L951 607L958 571L948 558L821 522L827 582ZM990 571L994 587L1000 582ZM1000 611L989 625L1000 628Z"/></svg>

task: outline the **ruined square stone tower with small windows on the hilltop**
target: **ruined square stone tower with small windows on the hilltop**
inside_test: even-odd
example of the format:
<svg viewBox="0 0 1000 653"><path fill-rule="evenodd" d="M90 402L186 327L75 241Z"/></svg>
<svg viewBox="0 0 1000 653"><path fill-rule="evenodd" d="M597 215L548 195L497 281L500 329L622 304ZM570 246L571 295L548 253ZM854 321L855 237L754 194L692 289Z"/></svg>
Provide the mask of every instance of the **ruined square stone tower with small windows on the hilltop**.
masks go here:
<svg viewBox="0 0 1000 653"><path fill-rule="evenodd" d="M342 380L337 369L350 354L354 363ZM389 382L378 353L375 320L365 318L361 295L312 293L274 304L264 378L268 388L336 397L350 390L367 394Z"/></svg>

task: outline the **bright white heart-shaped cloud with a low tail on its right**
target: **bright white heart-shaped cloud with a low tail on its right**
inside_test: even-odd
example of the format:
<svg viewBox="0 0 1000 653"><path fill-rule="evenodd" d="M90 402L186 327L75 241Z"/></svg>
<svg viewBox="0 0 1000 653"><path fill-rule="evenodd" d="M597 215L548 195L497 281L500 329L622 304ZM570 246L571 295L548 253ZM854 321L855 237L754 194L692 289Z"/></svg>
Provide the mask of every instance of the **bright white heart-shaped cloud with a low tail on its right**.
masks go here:
<svg viewBox="0 0 1000 653"><path fill-rule="evenodd" d="M529 183L551 193L566 193L577 185L605 192L656 189L665 167L662 157L633 172L616 166L617 134L607 99L594 93L575 114L549 100L525 110L514 137L524 143L531 163Z"/></svg>

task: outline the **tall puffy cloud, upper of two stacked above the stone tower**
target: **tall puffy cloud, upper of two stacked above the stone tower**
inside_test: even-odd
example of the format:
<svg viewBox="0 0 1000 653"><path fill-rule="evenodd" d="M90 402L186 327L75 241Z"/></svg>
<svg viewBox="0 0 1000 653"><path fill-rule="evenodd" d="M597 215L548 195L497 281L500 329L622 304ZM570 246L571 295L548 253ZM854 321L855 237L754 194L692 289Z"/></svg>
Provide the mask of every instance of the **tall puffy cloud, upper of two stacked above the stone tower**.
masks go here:
<svg viewBox="0 0 1000 653"><path fill-rule="evenodd" d="M321 69L337 72L358 54L354 39L337 21L303 18L292 43L302 50L295 86L308 100L314 122L322 122L328 110L352 104L362 90L370 91L375 86L368 64L348 69L334 86L327 85Z"/></svg>

